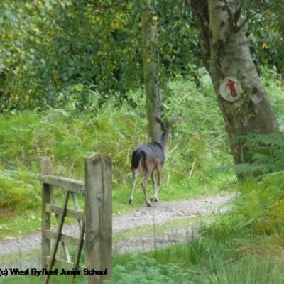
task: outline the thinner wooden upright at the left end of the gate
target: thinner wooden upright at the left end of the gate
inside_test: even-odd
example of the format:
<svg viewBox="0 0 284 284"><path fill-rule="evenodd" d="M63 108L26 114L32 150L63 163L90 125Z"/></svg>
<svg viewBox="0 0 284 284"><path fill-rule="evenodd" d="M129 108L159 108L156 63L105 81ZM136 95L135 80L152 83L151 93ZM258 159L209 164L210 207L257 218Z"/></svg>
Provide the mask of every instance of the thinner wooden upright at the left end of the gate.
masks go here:
<svg viewBox="0 0 284 284"><path fill-rule="evenodd" d="M41 175L49 175L51 173L50 157L43 157L40 160ZM41 266L48 268L45 263L46 257L50 256L50 239L46 238L45 231L50 230L50 213L45 211L45 204L51 200L51 185L43 183L41 200Z"/></svg>

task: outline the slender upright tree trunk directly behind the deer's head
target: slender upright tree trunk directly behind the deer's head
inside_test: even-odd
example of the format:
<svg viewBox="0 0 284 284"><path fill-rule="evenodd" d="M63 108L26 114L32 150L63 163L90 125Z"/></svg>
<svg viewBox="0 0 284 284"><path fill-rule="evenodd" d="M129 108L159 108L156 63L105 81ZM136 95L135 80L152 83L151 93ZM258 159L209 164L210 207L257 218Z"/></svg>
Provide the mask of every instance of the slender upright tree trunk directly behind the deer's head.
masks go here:
<svg viewBox="0 0 284 284"><path fill-rule="evenodd" d="M152 0L141 0L141 34L142 34L142 62L146 93L146 113L148 119L148 135L152 141L160 142L160 124L155 116L160 116L161 90L158 73L158 18L151 9Z"/></svg>

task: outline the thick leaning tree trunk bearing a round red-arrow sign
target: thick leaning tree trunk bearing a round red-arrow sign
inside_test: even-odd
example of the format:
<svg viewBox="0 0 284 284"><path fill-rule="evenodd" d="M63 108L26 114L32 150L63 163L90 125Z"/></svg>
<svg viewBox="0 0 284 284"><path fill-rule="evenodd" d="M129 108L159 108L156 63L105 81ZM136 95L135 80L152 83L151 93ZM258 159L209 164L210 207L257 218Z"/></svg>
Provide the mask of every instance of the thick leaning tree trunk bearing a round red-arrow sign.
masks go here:
<svg viewBox="0 0 284 284"><path fill-rule="evenodd" d="M236 165L249 163L245 137L253 133L274 133L278 131L278 122L251 58L249 39L241 30L241 6L232 0L192 0L190 6L195 13L204 65L224 116L234 162ZM231 98L222 97L222 84L231 79L238 82L238 93L231 92ZM229 81L224 86L229 92Z"/></svg>

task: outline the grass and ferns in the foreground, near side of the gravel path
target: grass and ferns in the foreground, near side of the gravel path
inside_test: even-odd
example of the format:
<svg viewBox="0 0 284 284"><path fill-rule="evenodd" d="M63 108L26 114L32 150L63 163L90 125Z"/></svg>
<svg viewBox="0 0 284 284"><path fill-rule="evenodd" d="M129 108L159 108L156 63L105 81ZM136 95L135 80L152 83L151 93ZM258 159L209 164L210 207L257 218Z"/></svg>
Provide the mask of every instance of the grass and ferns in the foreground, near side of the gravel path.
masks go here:
<svg viewBox="0 0 284 284"><path fill-rule="evenodd" d="M198 239L117 256L114 283L283 283L283 176L236 185L231 211L201 225Z"/></svg>

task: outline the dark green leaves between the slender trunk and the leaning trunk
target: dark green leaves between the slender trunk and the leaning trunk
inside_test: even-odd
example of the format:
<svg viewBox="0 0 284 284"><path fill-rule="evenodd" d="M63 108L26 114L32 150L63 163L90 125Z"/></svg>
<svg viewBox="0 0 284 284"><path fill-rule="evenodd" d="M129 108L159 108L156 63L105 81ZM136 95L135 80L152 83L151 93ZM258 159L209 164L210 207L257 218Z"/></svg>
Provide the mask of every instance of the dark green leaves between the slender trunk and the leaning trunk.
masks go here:
<svg viewBox="0 0 284 284"><path fill-rule="evenodd" d="M153 1L158 14L161 70L168 75L190 75L199 82L202 66L194 18L185 1Z"/></svg>

